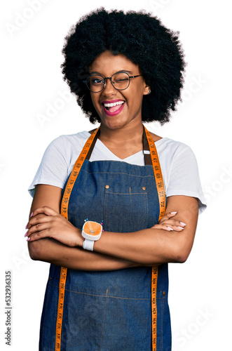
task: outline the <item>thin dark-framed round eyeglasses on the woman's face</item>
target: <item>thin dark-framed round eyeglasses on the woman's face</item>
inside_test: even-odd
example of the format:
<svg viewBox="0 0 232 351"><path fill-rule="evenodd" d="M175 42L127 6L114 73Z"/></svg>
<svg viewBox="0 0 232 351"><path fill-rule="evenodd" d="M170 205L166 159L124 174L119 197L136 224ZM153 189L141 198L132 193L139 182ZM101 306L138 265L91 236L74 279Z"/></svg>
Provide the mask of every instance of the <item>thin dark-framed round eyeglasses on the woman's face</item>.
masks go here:
<svg viewBox="0 0 232 351"><path fill-rule="evenodd" d="M92 93L100 93L106 86L106 79L110 79L112 86L117 90L125 90L130 85L130 78L140 77L142 74L138 74L137 76L129 76L128 73L125 72L116 72L111 77L102 77L99 74L91 74L86 81L88 89L92 91Z"/></svg>

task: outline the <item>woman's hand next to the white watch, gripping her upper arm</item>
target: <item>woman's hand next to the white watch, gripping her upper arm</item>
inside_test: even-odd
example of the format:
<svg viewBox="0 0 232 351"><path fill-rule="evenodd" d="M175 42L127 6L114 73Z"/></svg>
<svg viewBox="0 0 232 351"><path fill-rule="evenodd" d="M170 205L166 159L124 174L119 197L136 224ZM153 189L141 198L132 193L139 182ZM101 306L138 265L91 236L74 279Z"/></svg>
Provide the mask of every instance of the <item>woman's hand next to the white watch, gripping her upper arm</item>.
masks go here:
<svg viewBox="0 0 232 351"><path fill-rule="evenodd" d="M67 246L81 246L81 230L48 206L36 208L26 228L25 237L30 242L48 237Z"/></svg>

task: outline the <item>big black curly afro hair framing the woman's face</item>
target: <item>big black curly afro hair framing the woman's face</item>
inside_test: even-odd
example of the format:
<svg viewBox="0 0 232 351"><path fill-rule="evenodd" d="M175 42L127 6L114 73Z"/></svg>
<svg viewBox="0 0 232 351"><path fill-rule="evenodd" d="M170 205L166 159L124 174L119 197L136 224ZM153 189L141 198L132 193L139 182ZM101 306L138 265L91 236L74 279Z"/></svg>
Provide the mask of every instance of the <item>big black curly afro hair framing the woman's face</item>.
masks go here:
<svg viewBox="0 0 232 351"><path fill-rule="evenodd" d="M142 121L164 124L170 120L184 82L184 53L178 34L151 13L104 8L85 15L71 27L62 49L62 74L91 123L100 122L100 117L83 81L90 64L104 51L125 55L139 66L150 86L151 93L142 102Z"/></svg>

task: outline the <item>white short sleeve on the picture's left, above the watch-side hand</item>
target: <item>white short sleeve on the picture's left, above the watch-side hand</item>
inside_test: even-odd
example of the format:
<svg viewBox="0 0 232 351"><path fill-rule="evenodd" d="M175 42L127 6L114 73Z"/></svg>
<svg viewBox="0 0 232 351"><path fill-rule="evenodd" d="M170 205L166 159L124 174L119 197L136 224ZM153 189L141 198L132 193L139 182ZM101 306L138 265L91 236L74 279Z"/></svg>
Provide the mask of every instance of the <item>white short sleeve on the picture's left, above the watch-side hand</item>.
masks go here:
<svg viewBox="0 0 232 351"><path fill-rule="evenodd" d="M44 152L39 169L34 176L32 184L29 186L29 194L34 197L34 188L37 184L53 185L63 188L67 176L67 157L65 154L64 140L62 136L60 136L53 140Z"/></svg>

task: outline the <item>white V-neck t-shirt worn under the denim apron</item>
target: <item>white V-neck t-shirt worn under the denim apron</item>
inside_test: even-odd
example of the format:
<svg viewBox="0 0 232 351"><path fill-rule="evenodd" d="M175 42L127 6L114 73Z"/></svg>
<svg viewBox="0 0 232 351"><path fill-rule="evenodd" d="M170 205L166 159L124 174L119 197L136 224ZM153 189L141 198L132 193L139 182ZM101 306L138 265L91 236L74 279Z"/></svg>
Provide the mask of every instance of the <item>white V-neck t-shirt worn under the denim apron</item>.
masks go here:
<svg viewBox="0 0 232 351"><path fill-rule="evenodd" d="M29 187L32 197L34 196L34 187L37 184L64 187L64 183L89 136L88 131L61 135L48 145L36 176ZM185 195L196 197L199 204L199 213L202 212L206 207L206 202L200 185L196 157L191 148L184 143L169 138L162 138L155 144L161 163L166 196ZM128 164L144 166L142 151L125 159L119 159L97 139L90 161L108 160L124 161Z"/></svg>

